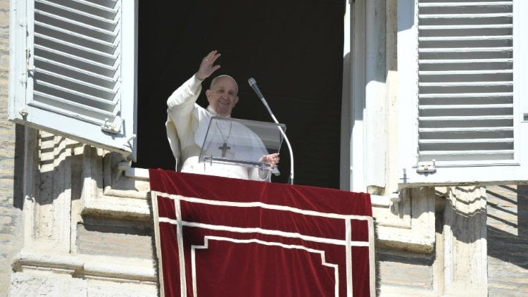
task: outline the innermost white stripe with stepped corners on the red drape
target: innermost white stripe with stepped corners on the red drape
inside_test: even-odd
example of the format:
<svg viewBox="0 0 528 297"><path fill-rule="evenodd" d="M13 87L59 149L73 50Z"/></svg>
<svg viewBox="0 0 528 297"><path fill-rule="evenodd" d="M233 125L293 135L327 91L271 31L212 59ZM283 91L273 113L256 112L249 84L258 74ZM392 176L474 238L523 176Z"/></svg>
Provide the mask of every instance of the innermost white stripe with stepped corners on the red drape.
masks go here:
<svg viewBox="0 0 528 297"><path fill-rule="evenodd" d="M195 249L205 249L209 246L209 240L216 240L216 241L230 241L235 244L263 244L265 246L280 246L282 248L295 248L299 250L308 251L309 253L318 253L321 256L321 264L323 266L327 266L334 269L334 294L336 297L339 296L339 269L337 264L327 263L325 258L325 251L315 250L313 248L306 248L306 246L297 246L297 245L291 245L291 244L281 244L279 242L275 241L262 241L260 239L232 239L229 237L221 237L221 236L204 236L204 244L203 246L191 246L191 259L192 259L192 286L193 286L193 293L194 297L197 297L197 289L196 289L196 255L195 255Z"/></svg>

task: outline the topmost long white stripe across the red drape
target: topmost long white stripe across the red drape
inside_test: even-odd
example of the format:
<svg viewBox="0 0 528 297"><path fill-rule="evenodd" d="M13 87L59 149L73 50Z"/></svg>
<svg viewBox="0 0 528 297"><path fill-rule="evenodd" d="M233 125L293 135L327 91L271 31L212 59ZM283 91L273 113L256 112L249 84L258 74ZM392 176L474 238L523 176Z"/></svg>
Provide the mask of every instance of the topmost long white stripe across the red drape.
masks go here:
<svg viewBox="0 0 528 297"><path fill-rule="evenodd" d="M234 206L234 207L240 207L240 208L265 208L265 209L272 209L272 210L284 210L289 211L291 213L300 213L303 215L313 215L316 217L330 217L335 219L351 219L351 220L370 220L372 217L368 215L339 215L337 213L320 213L315 210L303 210L300 208L292 208L290 206L277 206L275 204L266 204L262 202L232 202L232 201L217 201L217 200L209 200L209 199L202 199L202 198L194 198L194 197L186 197L181 195L172 195L172 194L166 194L161 193L158 191L152 191L153 193L156 193L158 196L162 196L165 198L170 198L172 200L182 200L187 201L191 203L202 203L202 204L208 204L212 206Z"/></svg>

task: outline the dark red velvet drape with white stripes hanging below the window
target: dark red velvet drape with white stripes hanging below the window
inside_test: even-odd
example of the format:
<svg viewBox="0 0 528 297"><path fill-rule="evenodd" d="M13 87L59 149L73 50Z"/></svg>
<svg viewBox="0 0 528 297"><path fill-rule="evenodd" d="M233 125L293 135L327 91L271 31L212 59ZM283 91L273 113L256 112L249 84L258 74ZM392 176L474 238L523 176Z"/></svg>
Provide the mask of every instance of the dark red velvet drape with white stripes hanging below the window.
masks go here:
<svg viewBox="0 0 528 297"><path fill-rule="evenodd" d="M370 296L368 194L165 170L150 182L165 296Z"/></svg>

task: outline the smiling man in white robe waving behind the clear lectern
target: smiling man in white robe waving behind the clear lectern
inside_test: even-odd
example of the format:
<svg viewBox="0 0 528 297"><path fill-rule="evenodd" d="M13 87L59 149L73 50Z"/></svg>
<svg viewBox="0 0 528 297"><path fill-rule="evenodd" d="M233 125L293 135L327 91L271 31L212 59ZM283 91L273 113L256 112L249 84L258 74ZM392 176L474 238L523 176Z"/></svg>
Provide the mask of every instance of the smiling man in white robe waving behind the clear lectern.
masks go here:
<svg viewBox="0 0 528 297"><path fill-rule="evenodd" d="M176 170L239 179L269 180L269 170L199 163L201 146L210 119L213 116L230 118L232 109L239 101L237 82L228 75L220 75L213 79L210 89L206 90L209 106L202 108L196 104L196 99L201 92L201 82L220 68L220 65L214 65L218 57L220 53L217 51L208 53L201 61L198 72L174 91L167 101L168 119L165 127L172 153L175 156ZM254 137L258 138L256 135ZM269 163L271 168L275 168L279 163L279 155L278 153L268 154L263 147L263 156L260 161Z"/></svg>

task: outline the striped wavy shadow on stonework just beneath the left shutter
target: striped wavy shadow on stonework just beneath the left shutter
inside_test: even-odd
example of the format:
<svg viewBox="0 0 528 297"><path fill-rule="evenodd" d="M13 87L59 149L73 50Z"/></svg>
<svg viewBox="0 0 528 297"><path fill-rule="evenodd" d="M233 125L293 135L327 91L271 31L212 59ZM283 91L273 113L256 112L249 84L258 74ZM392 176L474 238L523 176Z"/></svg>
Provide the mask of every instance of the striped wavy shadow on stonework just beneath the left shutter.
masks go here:
<svg viewBox="0 0 528 297"><path fill-rule="evenodd" d="M41 209L40 215L46 216L55 211L54 203L62 196L70 195L72 201L80 199L84 182L84 158L97 156L99 149L48 132L25 129L20 125L17 125L16 133L13 206L23 209L24 199L34 199L39 207L46 209ZM25 141L34 151L25 152ZM30 156L34 161L31 172L24 168L25 159ZM102 167L102 158L94 158L94 162L99 162L99 167ZM29 179L31 175L32 179ZM28 194L24 192L25 179L34 183L33 189L27 189ZM103 189L102 178L95 182L98 189ZM27 198L25 195L28 195Z"/></svg>

